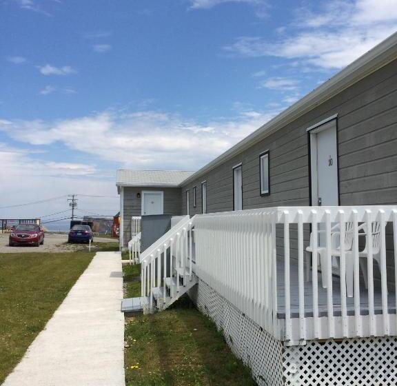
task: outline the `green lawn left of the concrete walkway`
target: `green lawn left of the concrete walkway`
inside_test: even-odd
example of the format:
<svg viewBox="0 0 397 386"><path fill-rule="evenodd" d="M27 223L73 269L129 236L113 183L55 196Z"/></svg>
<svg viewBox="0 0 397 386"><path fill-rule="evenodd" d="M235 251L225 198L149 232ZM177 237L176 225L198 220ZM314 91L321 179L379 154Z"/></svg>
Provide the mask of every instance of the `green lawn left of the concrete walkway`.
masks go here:
<svg viewBox="0 0 397 386"><path fill-rule="evenodd" d="M87 252L0 254L0 384L92 256Z"/></svg>

